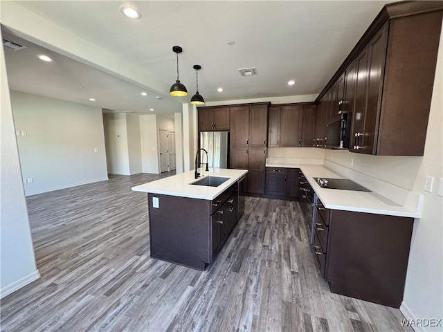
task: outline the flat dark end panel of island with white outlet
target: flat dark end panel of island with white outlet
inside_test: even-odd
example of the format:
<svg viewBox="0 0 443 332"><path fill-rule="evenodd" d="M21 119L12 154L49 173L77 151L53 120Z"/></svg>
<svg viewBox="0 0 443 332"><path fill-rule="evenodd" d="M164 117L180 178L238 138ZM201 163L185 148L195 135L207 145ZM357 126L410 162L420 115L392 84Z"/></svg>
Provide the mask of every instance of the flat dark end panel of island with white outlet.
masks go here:
<svg viewBox="0 0 443 332"><path fill-rule="evenodd" d="M153 207L154 197L159 208ZM151 257L204 270L212 257L211 201L148 194L148 203Z"/></svg>

